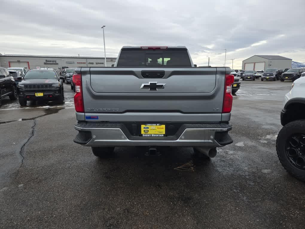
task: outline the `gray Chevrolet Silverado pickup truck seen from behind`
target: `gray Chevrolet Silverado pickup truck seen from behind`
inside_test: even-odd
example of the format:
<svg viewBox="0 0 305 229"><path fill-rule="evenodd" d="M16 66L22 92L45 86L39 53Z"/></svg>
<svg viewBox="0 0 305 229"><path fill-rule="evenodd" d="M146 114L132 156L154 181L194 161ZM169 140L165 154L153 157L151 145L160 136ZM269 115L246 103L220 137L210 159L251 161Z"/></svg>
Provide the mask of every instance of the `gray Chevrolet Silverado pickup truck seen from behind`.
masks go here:
<svg viewBox="0 0 305 229"><path fill-rule="evenodd" d="M214 157L231 144L234 76L229 67L194 67L184 46L124 46L114 67L73 76L74 142L106 157L114 147L193 147Z"/></svg>

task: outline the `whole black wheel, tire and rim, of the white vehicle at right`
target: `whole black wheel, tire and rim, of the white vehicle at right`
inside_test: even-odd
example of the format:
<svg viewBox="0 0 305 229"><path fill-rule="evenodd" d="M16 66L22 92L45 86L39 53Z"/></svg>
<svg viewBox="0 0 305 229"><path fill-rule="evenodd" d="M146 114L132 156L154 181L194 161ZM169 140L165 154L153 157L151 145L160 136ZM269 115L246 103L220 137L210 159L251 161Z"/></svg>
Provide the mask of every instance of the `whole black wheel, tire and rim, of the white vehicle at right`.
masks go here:
<svg viewBox="0 0 305 229"><path fill-rule="evenodd" d="M276 152L283 167L305 182L305 120L285 125L276 139Z"/></svg>

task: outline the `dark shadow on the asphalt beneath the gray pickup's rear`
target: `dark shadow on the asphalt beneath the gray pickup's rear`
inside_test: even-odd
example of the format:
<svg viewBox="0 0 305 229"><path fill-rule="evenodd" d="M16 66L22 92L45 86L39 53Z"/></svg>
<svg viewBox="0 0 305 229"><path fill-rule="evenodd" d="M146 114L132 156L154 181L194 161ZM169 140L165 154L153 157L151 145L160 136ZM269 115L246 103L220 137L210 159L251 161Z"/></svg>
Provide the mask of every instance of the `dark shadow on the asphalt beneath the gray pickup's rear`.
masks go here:
<svg viewBox="0 0 305 229"><path fill-rule="evenodd" d="M179 181L181 177L194 177L202 173L209 176L211 160L198 157L191 147L166 147L160 150L160 154L147 156L145 151L135 147L117 147L113 157L96 158L93 173L103 175L107 180L130 182L138 178L142 181L154 180L153 183ZM181 166L181 169L178 168Z"/></svg>

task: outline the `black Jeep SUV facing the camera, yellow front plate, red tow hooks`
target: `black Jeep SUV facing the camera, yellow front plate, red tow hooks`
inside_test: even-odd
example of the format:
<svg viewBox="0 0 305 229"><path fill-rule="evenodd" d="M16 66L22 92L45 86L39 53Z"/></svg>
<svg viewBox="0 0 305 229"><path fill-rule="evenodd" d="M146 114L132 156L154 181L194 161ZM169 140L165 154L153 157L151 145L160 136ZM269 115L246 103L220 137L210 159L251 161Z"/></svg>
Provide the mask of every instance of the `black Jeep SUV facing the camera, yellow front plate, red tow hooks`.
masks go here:
<svg viewBox="0 0 305 229"><path fill-rule="evenodd" d="M63 77L59 76L53 69L27 71L17 87L20 105L27 105L28 100L59 101L63 103L62 79Z"/></svg>

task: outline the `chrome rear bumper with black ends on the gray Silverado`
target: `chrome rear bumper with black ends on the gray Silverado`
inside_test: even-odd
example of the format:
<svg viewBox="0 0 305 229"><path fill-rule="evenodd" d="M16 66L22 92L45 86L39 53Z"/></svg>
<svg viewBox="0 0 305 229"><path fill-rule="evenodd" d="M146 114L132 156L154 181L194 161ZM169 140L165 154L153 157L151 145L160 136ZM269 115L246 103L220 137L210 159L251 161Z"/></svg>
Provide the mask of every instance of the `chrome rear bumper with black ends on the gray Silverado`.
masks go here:
<svg viewBox="0 0 305 229"><path fill-rule="evenodd" d="M123 124L78 123L79 131L74 142L84 146L201 146L222 147L233 140L228 134L230 124L184 124L174 136L142 137L132 136Z"/></svg>

